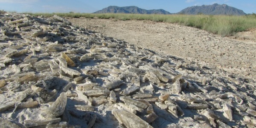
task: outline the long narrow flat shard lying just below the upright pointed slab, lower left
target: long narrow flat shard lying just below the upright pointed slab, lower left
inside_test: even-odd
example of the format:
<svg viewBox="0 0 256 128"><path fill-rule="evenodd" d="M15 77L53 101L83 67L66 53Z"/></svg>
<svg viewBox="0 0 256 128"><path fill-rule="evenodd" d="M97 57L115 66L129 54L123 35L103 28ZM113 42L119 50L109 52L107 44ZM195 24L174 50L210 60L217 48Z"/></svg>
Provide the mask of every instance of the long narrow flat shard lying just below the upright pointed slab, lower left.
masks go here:
<svg viewBox="0 0 256 128"><path fill-rule="evenodd" d="M43 119L43 120L25 120L24 125L26 128L36 127L41 125L47 125L52 123L58 123L61 121L61 118L54 118L54 119Z"/></svg>

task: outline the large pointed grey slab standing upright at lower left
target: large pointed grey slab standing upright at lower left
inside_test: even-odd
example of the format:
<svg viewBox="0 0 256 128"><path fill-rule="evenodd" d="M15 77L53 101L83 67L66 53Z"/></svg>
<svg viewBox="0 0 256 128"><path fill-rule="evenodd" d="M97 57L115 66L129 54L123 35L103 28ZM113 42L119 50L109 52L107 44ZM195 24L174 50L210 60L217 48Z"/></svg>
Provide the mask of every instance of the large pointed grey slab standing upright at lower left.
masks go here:
<svg viewBox="0 0 256 128"><path fill-rule="evenodd" d="M47 108L46 112L49 117L61 116L66 108L67 104L67 95L66 93L61 93L60 96L56 99L52 105Z"/></svg>

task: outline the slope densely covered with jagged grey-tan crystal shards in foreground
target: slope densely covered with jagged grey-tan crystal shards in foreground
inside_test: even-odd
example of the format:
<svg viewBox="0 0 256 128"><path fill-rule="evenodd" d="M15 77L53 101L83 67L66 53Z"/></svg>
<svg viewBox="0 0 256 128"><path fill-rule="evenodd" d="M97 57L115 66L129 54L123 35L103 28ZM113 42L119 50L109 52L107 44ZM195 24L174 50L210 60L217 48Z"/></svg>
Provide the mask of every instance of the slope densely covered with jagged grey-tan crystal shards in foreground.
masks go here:
<svg viewBox="0 0 256 128"><path fill-rule="evenodd" d="M0 127L256 126L250 75L162 54L57 15L1 11L0 30Z"/></svg>

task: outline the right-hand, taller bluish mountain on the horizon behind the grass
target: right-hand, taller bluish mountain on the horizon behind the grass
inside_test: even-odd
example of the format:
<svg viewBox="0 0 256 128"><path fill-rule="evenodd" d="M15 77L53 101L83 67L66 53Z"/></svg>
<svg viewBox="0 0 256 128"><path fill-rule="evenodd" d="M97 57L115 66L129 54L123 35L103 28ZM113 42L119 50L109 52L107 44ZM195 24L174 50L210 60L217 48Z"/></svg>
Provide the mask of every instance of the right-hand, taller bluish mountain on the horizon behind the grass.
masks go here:
<svg viewBox="0 0 256 128"><path fill-rule="evenodd" d="M188 15L246 15L242 10L236 9L234 7L227 6L226 4L213 4L213 5L202 5L202 6L192 6L181 10L178 14L188 14Z"/></svg>

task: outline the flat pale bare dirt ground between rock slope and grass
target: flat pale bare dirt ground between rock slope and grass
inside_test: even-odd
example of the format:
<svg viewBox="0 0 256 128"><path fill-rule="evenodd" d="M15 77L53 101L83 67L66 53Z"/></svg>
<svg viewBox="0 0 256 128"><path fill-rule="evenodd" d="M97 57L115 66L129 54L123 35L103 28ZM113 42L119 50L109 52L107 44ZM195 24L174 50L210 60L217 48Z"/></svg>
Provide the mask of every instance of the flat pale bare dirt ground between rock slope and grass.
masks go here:
<svg viewBox="0 0 256 128"><path fill-rule="evenodd" d="M174 55L198 61L207 67L256 79L256 42L253 32L241 32L240 38L221 37L204 30L172 23L147 20L70 18L73 25L103 35L123 39L162 55ZM244 37L244 38L243 38ZM252 39L252 40L244 40Z"/></svg>

